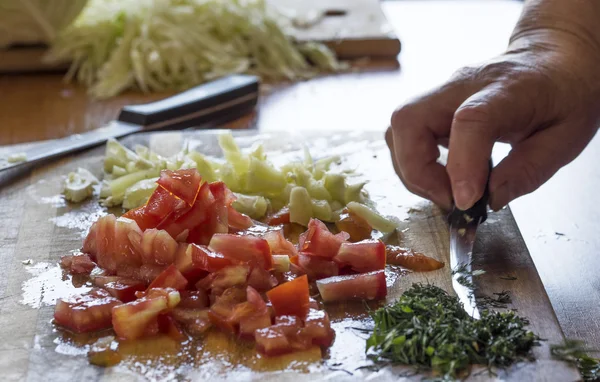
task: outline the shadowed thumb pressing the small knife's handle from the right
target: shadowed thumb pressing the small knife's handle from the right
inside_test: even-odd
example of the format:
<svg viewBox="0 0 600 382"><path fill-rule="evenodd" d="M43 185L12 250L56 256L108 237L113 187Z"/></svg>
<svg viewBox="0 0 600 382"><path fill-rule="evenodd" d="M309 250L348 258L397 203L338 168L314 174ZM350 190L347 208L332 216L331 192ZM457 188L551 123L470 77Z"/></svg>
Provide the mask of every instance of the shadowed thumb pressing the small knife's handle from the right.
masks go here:
<svg viewBox="0 0 600 382"><path fill-rule="evenodd" d="M581 126L581 124L579 124ZM596 129L562 123L519 142L492 171L490 207L494 210L538 189L570 163L592 139Z"/></svg>

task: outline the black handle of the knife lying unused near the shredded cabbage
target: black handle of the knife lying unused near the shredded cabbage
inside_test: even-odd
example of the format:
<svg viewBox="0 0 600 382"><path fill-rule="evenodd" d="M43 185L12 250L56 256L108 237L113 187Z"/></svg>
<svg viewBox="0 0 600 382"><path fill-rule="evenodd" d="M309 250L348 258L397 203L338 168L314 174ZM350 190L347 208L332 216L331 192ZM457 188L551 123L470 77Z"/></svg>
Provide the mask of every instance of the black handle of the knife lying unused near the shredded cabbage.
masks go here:
<svg viewBox="0 0 600 382"><path fill-rule="evenodd" d="M226 76L160 101L125 106L118 120L146 130L203 127L213 121L223 123L254 109L258 86L256 76Z"/></svg>

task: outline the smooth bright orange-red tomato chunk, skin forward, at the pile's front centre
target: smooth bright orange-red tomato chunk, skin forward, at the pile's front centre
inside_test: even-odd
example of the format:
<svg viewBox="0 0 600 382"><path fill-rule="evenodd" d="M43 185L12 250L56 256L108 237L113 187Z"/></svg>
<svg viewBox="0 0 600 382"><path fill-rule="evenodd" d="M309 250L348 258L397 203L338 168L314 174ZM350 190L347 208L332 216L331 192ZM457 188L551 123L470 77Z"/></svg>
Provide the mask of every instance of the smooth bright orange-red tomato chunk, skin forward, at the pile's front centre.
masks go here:
<svg viewBox="0 0 600 382"><path fill-rule="evenodd" d="M267 297L276 315L304 317L309 305L308 278L304 275L283 283L268 291Z"/></svg>

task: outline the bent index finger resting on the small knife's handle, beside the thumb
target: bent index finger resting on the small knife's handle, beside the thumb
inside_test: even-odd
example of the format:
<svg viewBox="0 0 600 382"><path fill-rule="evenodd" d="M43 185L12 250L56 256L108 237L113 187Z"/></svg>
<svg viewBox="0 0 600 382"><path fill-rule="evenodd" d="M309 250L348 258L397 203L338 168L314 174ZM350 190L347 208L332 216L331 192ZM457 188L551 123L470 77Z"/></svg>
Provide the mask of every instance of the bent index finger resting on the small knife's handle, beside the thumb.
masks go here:
<svg viewBox="0 0 600 382"><path fill-rule="evenodd" d="M472 207L483 195L496 140L512 126L531 121L531 112L510 93L500 84L490 85L468 98L454 113L446 169L454 203L462 210Z"/></svg>

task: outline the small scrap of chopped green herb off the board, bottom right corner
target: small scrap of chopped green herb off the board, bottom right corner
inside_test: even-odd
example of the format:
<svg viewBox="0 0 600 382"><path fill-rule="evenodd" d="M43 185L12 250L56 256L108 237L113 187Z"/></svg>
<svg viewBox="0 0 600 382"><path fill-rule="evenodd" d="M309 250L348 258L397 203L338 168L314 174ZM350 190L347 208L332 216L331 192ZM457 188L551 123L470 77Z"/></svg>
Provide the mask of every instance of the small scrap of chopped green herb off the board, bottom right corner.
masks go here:
<svg viewBox="0 0 600 382"><path fill-rule="evenodd" d="M556 359L577 366L584 381L600 381L600 359L591 357L588 353L597 350L586 349L577 340L565 340L562 345L552 345L550 354Z"/></svg>

